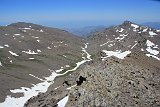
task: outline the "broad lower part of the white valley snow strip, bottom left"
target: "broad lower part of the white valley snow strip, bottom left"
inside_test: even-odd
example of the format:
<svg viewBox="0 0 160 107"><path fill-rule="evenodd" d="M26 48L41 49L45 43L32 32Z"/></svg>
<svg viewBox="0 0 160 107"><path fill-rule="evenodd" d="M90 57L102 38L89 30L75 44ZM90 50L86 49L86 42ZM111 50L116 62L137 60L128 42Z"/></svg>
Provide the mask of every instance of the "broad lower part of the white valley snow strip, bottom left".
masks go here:
<svg viewBox="0 0 160 107"><path fill-rule="evenodd" d="M23 97L14 98L8 95L3 103L0 103L0 107L23 107L25 102L33 96L37 96L38 93L46 92L48 87L52 84L57 74L52 72L51 76L45 77L45 81L33 85L31 88L21 87L20 89L10 90L12 93L23 93Z"/></svg>

